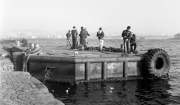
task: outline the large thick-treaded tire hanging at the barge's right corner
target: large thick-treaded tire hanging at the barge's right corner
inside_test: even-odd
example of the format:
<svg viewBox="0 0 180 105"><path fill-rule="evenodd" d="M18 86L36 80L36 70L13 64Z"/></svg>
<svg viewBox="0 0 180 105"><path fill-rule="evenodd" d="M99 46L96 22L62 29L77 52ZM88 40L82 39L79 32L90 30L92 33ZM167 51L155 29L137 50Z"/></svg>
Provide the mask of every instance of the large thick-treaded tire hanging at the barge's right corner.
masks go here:
<svg viewBox="0 0 180 105"><path fill-rule="evenodd" d="M145 57L148 78L166 78L170 69L170 57L162 49L150 49Z"/></svg>

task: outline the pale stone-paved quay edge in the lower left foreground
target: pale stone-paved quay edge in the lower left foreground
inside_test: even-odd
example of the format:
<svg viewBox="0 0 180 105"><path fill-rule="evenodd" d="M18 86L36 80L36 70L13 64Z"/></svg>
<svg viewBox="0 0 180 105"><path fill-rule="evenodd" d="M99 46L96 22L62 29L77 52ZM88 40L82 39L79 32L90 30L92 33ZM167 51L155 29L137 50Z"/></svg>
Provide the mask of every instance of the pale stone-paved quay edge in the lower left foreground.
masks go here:
<svg viewBox="0 0 180 105"><path fill-rule="evenodd" d="M11 55L0 45L0 105L64 105L28 72L14 71Z"/></svg>

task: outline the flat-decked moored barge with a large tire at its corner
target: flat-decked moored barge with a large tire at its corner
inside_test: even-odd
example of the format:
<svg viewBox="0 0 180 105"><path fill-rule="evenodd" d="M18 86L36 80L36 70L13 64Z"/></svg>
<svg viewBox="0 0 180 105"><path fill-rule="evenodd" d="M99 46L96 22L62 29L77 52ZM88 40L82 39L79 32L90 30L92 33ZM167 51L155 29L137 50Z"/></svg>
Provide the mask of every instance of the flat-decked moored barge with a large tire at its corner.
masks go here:
<svg viewBox="0 0 180 105"><path fill-rule="evenodd" d="M167 78L170 58L162 49L149 49L141 54L122 52L79 51L70 47L42 47L40 55L30 54L29 47L14 46L10 52L16 71L27 71L39 80L55 82L121 81ZM24 70L23 65L26 66Z"/></svg>

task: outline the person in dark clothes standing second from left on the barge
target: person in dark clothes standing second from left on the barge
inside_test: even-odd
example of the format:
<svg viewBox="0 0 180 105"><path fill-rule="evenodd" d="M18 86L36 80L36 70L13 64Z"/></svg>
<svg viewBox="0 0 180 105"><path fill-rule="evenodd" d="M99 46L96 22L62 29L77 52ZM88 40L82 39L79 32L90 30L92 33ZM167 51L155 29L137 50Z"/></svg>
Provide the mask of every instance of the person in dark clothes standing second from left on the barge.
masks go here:
<svg viewBox="0 0 180 105"><path fill-rule="evenodd" d="M73 26L73 29L71 30L71 34L72 34L72 42L73 42L72 49L76 49L78 32L75 26Z"/></svg>

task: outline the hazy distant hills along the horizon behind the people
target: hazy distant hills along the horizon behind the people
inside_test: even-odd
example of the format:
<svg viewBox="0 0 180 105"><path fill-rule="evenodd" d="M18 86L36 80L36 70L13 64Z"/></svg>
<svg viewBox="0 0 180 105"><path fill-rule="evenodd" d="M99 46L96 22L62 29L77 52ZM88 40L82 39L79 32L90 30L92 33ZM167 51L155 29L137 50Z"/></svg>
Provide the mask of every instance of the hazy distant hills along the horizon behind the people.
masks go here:
<svg viewBox="0 0 180 105"><path fill-rule="evenodd" d="M180 37L176 34L175 37ZM45 32L40 30L13 30L10 32L0 33L0 39L17 39L17 38L66 38L66 32ZM88 38L97 38L96 33L90 33ZM137 34L137 39L169 39L174 38L169 35L143 35ZM121 33L105 33L105 39L122 39Z"/></svg>

